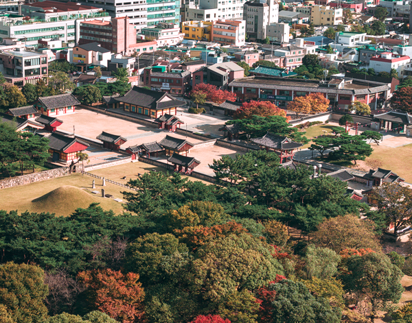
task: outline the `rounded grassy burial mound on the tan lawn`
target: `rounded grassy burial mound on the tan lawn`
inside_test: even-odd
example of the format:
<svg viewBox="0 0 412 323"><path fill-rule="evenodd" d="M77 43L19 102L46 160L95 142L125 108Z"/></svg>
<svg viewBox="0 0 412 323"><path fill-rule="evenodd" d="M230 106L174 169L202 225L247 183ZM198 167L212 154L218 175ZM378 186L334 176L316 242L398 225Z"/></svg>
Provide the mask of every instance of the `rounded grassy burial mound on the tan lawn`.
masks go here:
<svg viewBox="0 0 412 323"><path fill-rule="evenodd" d="M56 215L68 215L76 208L87 208L91 203L98 203L101 200L86 191L65 185L54 189L49 193L32 200L32 210L35 212L48 211Z"/></svg>

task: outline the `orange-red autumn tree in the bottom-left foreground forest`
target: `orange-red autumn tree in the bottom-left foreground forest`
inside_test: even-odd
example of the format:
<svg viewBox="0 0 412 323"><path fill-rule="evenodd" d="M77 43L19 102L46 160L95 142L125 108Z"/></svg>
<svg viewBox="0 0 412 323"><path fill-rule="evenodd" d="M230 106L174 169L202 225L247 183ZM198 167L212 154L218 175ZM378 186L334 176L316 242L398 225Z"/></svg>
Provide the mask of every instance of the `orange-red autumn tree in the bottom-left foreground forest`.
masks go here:
<svg viewBox="0 0 412 323"><path fill-rule="evenodd" d="M100 311L122 323L144 318L144 290L139 275L104 269L80 272L79 278L89 288L89 300Z"/></svg>

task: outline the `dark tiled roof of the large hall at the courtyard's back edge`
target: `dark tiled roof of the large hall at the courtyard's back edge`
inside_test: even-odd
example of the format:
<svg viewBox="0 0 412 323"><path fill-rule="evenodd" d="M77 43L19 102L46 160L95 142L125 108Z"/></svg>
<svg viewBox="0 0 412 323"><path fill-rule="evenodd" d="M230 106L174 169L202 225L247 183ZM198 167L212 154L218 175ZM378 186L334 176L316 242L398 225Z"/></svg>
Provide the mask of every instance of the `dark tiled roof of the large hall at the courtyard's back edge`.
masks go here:
<svg viewBox="0 0 412 323"><path fill-rule="evenodd" d="M186 104L185 101L175 99L168 93L147 90L146 88L139 88L138 86L133 86L123 97L117 97L115 100L153 110L174 108Z"/></svg>

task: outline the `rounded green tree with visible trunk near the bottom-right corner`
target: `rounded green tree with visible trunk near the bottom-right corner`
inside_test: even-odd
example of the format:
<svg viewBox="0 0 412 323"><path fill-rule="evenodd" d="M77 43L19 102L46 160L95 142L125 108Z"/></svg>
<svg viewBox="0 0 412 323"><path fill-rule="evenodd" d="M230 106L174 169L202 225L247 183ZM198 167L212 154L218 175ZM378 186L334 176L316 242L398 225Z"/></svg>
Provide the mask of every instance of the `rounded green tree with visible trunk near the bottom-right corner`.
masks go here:
<svg viewBox="0 0 412 323"><path fill-rule="evenodd" d="M345 261L347 272L341 274L345 291L353 293L359 307L369 307L373 321L377 311L397 303L404 291L401 270L385 254L369 252Z"/></svg>

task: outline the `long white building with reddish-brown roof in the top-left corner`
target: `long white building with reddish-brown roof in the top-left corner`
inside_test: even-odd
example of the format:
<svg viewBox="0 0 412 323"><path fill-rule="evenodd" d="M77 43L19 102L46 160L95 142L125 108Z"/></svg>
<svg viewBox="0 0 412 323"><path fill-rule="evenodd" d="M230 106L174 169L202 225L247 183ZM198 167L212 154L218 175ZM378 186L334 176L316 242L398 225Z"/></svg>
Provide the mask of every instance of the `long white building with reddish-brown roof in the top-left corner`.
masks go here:
<svg viewBox="0 0 412 323"><path fill-rule="evenodd" d="M49 6L52 8L48 9ZM25 16L30 17L29 20L23 21L25 16L13 16L11 19L7 15L0 16L0 37L14 38L33 47L38 47L38 40L41 39L58 39L65 43L76 43L79 39L76 30L81 21L110 19L107 12L76 3L43 1L25 5L23 9ZM45 15L45 12L49 14Z"/></svg>

